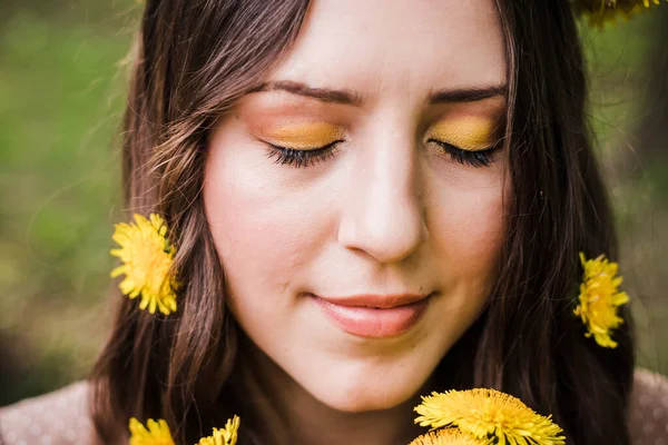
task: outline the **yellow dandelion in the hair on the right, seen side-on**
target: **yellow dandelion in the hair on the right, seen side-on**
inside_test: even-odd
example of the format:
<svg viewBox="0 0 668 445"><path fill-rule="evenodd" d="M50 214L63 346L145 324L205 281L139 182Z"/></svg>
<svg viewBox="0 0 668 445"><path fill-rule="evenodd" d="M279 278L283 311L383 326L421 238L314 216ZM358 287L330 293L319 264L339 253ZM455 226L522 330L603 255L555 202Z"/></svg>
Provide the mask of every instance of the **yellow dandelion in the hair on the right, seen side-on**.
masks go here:
<svg viewBox="0 0 668 445"><path fill-rule="evenodd" d="M584 277L578 297L580 304L574 314L587 326L587 337L593 336L602 347L617 347L610 330L623 323L623 318L617 315L617 308L629 301L629 296L618 290L622 280L617 276L618 265L608 263L602 255L596 259L584 259L584 255L580 254L580 261L584 267Z"/></svg>

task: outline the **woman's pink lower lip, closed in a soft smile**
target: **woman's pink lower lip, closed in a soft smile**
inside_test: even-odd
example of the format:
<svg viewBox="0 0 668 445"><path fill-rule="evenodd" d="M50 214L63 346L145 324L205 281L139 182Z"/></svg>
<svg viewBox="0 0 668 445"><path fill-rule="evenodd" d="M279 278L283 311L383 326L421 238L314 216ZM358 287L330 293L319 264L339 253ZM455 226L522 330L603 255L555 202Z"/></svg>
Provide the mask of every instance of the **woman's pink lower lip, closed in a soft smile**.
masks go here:
<svg viewBox="0 0 668 445"><path fill-rule="evenodd" d="M429 297L410 305L381 309L364 306L344 306L313 296L323 312L343 330L360 337L386 338L413 327L429 305Z"/></svg>

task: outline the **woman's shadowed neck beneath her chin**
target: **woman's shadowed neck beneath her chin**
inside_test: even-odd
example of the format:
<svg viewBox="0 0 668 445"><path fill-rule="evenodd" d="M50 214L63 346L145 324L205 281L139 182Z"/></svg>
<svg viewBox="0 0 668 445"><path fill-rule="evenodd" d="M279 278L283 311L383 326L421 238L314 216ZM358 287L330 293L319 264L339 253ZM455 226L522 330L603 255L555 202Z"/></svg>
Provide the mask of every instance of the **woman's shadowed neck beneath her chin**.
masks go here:
<svg viewBox="0 0 668 445"><path fill-rule="evenodd" d="M383 411L346 413L317 400L252 342L239 357L246 402L272 445L407 444L424 428L414 424L416 395ZM422 392L426 390L426 387ZM247 405L247 406L248 406ZM242 419L243 424L243 419Z"/></svg>

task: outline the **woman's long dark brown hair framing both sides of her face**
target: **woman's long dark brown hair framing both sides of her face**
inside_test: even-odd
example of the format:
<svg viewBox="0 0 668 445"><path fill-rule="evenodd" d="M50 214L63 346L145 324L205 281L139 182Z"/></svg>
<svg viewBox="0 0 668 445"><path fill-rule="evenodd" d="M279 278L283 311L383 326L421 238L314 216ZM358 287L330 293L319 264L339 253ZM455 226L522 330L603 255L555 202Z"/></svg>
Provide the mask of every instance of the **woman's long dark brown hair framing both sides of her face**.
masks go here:
<svg viewBox="0 0 668 445"><path fill-rule="evenodd" d="M507 42L505 144L512 194L500 278L481 317L435 370L440 389L495 387L552 414L571 445L629 445L629 316L607 349L573 316L578 254L616 258L612 217L586 120L587 81L567 0L498 0ZM158 211L178 246L179 308L168 317L118 298L91 376L105 443L129 417L165 418L195 443L232 414L240 444L263 443L235 389L239 329L204 215L207 138L216 120L289 50L307 0L148 0L125 116L129 212ZM266 434L266 432L265 432Z"/></svg>

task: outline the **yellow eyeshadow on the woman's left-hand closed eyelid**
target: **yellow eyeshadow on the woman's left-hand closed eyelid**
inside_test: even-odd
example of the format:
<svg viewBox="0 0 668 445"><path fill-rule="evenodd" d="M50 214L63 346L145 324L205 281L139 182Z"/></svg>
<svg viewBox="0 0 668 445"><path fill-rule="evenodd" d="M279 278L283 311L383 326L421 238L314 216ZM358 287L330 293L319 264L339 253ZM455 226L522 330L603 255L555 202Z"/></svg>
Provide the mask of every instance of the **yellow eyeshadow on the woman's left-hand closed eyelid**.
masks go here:
<svg viewBox="0 0 668 445"><path fill-rule="evenodd" d="M277 146L307 150L340 140L343 128L323 122L296 123L268 130L264 136Z"/></svg>

